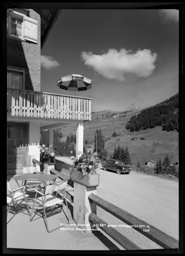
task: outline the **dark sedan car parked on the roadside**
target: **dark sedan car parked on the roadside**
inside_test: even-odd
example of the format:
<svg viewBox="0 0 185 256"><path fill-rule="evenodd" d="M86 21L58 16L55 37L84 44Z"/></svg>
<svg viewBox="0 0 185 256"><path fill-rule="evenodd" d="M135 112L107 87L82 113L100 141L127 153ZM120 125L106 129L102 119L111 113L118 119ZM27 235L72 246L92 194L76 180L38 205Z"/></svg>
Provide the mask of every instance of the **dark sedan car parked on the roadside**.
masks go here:
<svg viewBox="0 0 185 256"><path fill-rule="evenodd" d="M109 159L105 163L102 163L102 167L105 171L112 170L117 172L117 174L130 173L130 168L119 160Z"/></svg>

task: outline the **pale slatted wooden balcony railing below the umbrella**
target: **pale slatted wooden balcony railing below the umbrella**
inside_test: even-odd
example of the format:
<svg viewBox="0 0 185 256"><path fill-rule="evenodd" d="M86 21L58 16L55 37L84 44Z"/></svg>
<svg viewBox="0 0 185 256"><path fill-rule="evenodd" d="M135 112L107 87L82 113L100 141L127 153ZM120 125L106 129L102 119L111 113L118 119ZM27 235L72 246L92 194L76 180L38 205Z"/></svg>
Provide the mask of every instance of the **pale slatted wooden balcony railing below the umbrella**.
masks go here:
<svg viewBox="0 0 185 256"><path fill-rule="evenodd" d="M7 114L91 120L91 100L91 98L7 88Z"/></svg>

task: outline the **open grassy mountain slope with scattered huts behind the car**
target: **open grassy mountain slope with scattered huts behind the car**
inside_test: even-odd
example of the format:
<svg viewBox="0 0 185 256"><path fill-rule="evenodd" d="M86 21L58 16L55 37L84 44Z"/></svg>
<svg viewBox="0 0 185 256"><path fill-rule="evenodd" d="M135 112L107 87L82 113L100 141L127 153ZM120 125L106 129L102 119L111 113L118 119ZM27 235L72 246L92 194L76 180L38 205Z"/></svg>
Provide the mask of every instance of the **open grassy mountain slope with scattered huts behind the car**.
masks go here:
<svg viewBox="0 0 185 256"><path fill-rule="evenodd" d="M114 147L128 146L132 163L144 165L147 160L154 162L158 161L159 158L163 160L168 153L171 163L177 162L178 160L178 136L179 133L176 131L166 132L162 131L161 126L157 126L153 129L141 130L139 132L130 132L125 129L127 121L130 120L131 116L140 113L140 111L128 112L126 117L115 119L113 116L106 118L107 114L115 113L112 111L102 111L92 113L92 120L84 122L84 142L88 141L87 146L94 145L95 132L101 129L104 137L110 137L112 133L122 133L118 137L121 141L117 142L118 137L109 139L105 143L105 149L108 151L108 157L110 153L114 151ZM103 114L103 117L102 117ZM98 119L97 119L98 117ZM76 134L76 124L61 127L62 139L65 141L67 136ZM131 137L144 137L146 140L131 141ZM159 141L161 143L159 143Z"/></svg>

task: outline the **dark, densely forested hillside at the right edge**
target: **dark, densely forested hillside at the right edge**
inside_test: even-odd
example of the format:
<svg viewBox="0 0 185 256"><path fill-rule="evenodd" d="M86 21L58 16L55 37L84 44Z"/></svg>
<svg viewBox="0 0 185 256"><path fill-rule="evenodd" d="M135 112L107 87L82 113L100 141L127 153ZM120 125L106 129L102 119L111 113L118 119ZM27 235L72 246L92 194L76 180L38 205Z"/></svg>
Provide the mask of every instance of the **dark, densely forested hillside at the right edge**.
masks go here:
<svg viewBox="0 0 185 256"><path fill-rule="evenodd" d="M141 110L137 116L132 116L126 129L131 132L162 126L163 130L179 131L179 94L155 106Z"/></svg>

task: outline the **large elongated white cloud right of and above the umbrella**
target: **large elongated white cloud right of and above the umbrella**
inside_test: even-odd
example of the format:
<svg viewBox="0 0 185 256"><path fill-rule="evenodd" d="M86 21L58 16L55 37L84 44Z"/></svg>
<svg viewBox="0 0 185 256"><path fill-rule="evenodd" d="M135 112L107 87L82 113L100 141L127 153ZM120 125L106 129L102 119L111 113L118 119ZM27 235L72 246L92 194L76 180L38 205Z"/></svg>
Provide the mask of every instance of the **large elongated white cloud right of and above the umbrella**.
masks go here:
<svg viewBox="0 0 185 256"><path fill-rule="evenodd" d="M125 80L125 74L135 74L138 77L148 77L155 69L154 62L157 59L156 53L150 50L138 50L133 53L132 50L109 49L107 53L95 55L92 52L81 52L81 57L88 65L98 72L98 74L108 78Z"/></svg>

